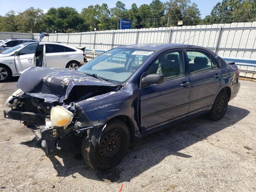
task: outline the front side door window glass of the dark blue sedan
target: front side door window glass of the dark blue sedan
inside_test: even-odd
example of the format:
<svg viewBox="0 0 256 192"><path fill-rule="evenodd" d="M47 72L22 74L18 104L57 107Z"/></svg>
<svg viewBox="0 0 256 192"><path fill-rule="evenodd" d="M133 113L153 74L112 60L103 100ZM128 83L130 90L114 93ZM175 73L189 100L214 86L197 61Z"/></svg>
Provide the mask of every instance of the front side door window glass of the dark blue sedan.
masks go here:
<svg viewBox="0 0 256 192"><path fill-rule="evenodd" d="M182 50L159 56L148 68L147 75L149 74L162 74L165 80L184 76L185 66Z"/></svg>

